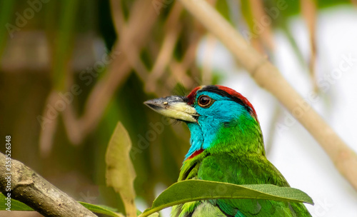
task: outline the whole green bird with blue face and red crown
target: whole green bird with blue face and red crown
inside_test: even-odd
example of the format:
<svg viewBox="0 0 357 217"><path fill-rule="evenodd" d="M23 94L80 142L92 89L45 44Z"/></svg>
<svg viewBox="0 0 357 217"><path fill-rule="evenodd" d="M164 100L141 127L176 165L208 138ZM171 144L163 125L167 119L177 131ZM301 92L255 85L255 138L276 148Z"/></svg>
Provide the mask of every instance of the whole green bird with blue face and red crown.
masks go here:
<svg viewBox="0 0 357 217"><path fill-rule="evenodd" d="M226 86L198 86L188 96L168 96L145 104L183 121L191 131L191 148L178 181L202 179L226 183L289 186L266 159L256 111ZM311 216L302 203L262 199L218 199L174 206L171 216Z"/></svg>

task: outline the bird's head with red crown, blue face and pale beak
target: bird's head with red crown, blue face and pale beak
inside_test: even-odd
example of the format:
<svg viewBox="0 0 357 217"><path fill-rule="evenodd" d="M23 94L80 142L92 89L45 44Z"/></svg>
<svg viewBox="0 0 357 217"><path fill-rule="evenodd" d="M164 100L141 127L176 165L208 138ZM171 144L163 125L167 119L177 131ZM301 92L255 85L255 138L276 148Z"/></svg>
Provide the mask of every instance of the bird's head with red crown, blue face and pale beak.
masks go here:
<svg viewBox="0 0 357 217"><path fill-rule="evenodd" d="M191 148L186 159L203 151L265 154L256 111L244 96L226 86L198 86L188 96L168 96L145 104L187 123Z"/></svg>

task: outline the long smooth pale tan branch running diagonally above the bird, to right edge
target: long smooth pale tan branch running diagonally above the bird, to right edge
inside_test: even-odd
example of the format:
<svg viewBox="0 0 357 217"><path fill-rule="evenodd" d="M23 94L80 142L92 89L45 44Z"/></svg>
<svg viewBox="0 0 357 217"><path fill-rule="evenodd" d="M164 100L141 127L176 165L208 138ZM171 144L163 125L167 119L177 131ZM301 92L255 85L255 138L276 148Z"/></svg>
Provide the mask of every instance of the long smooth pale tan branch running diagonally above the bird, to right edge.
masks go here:
<svg viewBox="0 0 357 217"><path fill-rule="evenodd" d="M291 86L280 71L248 45L218 12L204 0L180 0L208 31L216 35L253 77L259 86L269 91L311 133L326 151L338 171L357 190L357 155L328 126ZM297 114L298 113L298 114Z"/></svg>

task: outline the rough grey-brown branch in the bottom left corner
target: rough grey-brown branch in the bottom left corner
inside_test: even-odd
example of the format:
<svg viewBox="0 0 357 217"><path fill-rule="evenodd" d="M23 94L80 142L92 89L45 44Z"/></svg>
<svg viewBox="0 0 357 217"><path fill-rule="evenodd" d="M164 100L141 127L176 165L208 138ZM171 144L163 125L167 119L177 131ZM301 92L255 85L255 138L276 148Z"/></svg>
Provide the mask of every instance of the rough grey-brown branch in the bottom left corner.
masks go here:
<svg viewBox="0 0 357 217"><path fill-rule="evenodd" d="M0 190L7 195L6 156L0 153ZM14 198L44 216L96 216L81 206L74 198L56 188L24 165L20 161L11 159L11 198Z"/></svg>

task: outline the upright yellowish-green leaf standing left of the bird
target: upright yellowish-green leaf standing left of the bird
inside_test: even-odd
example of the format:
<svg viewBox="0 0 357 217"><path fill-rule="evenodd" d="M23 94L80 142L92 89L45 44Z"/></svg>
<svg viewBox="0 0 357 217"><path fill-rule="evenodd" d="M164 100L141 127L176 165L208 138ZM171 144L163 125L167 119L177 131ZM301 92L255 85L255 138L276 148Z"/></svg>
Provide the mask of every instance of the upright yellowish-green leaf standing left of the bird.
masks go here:
<svg viewBox="0 0 357 217"><path fill-rule="evenodd" d="M123 199L126 216L136 216L134 179L136 173L129 152L131 139L118 122L106 149L106 185L112 186Z"/></svg>

